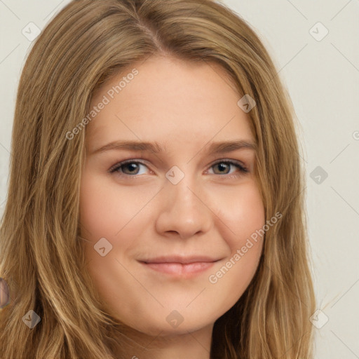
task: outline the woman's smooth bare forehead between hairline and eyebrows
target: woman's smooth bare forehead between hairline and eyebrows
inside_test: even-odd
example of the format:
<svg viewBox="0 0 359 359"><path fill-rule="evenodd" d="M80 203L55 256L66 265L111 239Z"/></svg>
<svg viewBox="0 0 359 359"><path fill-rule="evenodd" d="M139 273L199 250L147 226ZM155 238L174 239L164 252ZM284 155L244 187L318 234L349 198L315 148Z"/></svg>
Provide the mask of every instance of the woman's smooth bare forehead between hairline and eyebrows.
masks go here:
<svg viewBox="0 0 359 359"><path fill-rule="evenodd" d="M106 105L86 127L86 142L98 147L121 138L195 147L211 139L250 141L250 118L238 107L240 98L215 63L149 57L96 91L90 109Z"/></svg>

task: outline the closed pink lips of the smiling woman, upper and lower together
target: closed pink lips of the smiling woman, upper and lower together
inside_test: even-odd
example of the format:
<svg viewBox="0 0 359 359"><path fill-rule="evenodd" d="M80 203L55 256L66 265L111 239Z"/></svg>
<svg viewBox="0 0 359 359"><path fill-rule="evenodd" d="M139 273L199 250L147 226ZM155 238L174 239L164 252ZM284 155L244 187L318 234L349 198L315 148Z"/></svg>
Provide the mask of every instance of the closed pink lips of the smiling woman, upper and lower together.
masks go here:
<svg viewBox="0 0 359 359"><path fill-rule="evenodd" d="M167 273L172 276L190 278L210 269L219 259L210 257L156 257L139 261L149 269L160 273Z"/></svg>

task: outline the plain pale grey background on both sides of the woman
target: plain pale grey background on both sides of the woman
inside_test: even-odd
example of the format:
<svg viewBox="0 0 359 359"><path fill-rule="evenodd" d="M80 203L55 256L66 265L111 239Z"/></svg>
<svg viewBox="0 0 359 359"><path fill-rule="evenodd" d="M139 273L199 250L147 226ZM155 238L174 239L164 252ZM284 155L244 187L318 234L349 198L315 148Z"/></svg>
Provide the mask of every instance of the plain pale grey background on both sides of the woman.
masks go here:
<svg viewBox="0 0 359 359"><path fill-rule="evenodd" d="M34 34L34 25L28 24L42 29L68 2L0 0L1 214L15 94L31 46L25 34ZM302 128L312 271L322 311L313 320L320 327L314 358L359 358L359 1L220 2L261 37ZM318 22L329 31L323 39L325 29ZM313 172L318 166L319 172Z"/></svg>

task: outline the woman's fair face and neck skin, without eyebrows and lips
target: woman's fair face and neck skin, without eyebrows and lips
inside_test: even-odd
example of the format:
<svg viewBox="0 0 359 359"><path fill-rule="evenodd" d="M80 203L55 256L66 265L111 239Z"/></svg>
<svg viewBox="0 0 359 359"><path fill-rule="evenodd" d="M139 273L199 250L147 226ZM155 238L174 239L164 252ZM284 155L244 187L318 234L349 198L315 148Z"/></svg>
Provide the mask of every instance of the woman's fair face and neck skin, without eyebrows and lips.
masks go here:
<svg viewBox="0 0 359 359"><path fill-rule="evenodd" d="M133 348L126 358L208 359L215 320L250 284L262 238L217 283L209 276L233 262L265 218L255 151L207 150L212 142L254 142L250 118L222 67L159 56L104 83L90 108L134 67L137 76L86 127L80 216L87 269L107 311L127 325L128 337L151 349ZM93 153L116 140L156 141L166 150ZM109 173L128 159L144 165ZM239 161L249 172L217 160ZM177 184L165 176L172 166L184 174ZM104 257L94 249L100 238L112 245ZM160 273L139 262L170 254L220 260L196 276ZM182 323L171 325L169 315Z"/></svg>

